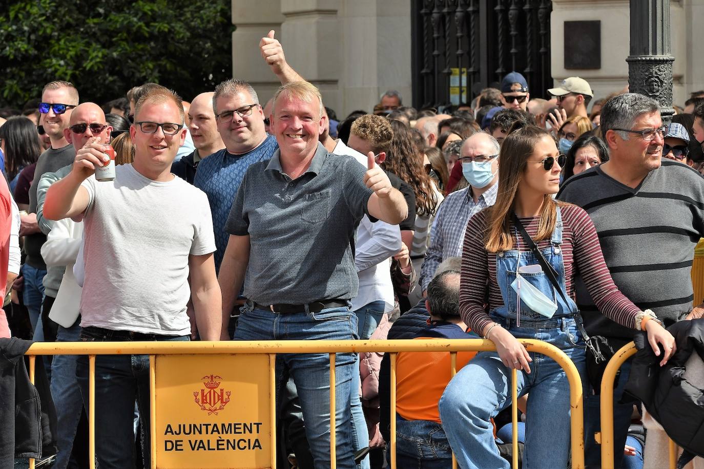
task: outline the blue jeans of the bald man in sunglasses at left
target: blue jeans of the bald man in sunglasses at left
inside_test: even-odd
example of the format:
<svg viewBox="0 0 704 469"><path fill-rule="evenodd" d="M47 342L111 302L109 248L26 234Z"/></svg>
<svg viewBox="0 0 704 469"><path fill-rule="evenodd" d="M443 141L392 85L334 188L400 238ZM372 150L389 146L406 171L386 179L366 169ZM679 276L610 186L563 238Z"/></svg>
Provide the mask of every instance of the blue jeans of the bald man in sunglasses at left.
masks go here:
<svg viewBox="0 0 704 469"><path fill-rule="evenodd" d="M77 342L80 337L80 318L70 328L58 326L56 342ZM55 469L65 469L71 458L73 440L83 411L83 398L76 380L78 355L55 355L51 364L51 397L56 406Z"/></svg>

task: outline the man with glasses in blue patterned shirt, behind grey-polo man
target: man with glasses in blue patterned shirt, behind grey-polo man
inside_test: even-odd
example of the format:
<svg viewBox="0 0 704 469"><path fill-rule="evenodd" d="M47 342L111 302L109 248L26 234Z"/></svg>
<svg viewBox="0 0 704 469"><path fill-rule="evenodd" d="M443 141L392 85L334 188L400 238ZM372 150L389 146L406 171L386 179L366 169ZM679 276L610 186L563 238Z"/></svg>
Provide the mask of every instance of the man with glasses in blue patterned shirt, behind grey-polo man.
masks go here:
<svg viewBox="0 0 704 469"><path fill-rule="evenodd" d="M244 173L252 163L269 160L279 145L264 130L264 112L249 83L228 79L218 84L213 111L225 149L201 161L193 184L208 195L219 271L229 236L225 222Z"/></svg>

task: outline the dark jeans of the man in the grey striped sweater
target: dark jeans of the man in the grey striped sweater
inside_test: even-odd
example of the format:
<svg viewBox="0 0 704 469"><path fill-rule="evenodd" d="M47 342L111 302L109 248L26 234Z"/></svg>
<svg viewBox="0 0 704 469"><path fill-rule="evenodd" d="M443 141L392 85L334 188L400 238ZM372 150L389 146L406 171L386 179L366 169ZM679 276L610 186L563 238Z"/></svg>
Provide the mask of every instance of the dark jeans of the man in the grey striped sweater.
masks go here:
<svg viewBox="0 0 704 469"><path fill-rule="evenodd" d="M621 366L614 390L614 467L621 467L623 449L626 444L628 428L631 425L633 402L620 404L623 390L628 383L631 372L631 360ZM584 388L584 463L587 469L601 468L601 444L594 439L595 432L601 432L601 395L593 394L591 385Z"/></svg>

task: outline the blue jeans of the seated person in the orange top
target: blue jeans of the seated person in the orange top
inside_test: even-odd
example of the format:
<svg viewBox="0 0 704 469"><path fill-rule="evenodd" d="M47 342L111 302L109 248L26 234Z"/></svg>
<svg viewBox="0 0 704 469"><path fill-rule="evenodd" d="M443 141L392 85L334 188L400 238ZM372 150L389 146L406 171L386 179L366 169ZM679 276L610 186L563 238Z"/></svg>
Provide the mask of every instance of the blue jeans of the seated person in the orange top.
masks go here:
<svg viewBox="0 0 704 469"><path fill-rule="evenodd" d="M452 449L442 425L396 416L396 465L403 469L451 468Z"/></svg>

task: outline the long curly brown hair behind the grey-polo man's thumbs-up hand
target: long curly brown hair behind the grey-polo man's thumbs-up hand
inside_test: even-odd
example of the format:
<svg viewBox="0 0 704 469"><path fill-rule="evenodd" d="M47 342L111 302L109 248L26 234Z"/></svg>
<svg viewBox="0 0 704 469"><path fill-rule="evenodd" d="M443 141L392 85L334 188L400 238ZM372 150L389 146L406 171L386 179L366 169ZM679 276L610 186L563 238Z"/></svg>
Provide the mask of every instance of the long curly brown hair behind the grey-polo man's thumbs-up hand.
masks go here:
<svg viewBox="0 0 704 469"><path fill-rule="evenodd" d="M394 139L386 152L383 167L413 188L416 214L434 214L438 200L432 188L432 179L425 173L420 149L413 143L408 127L397 120L390 123L394 129Z"/></svg>

